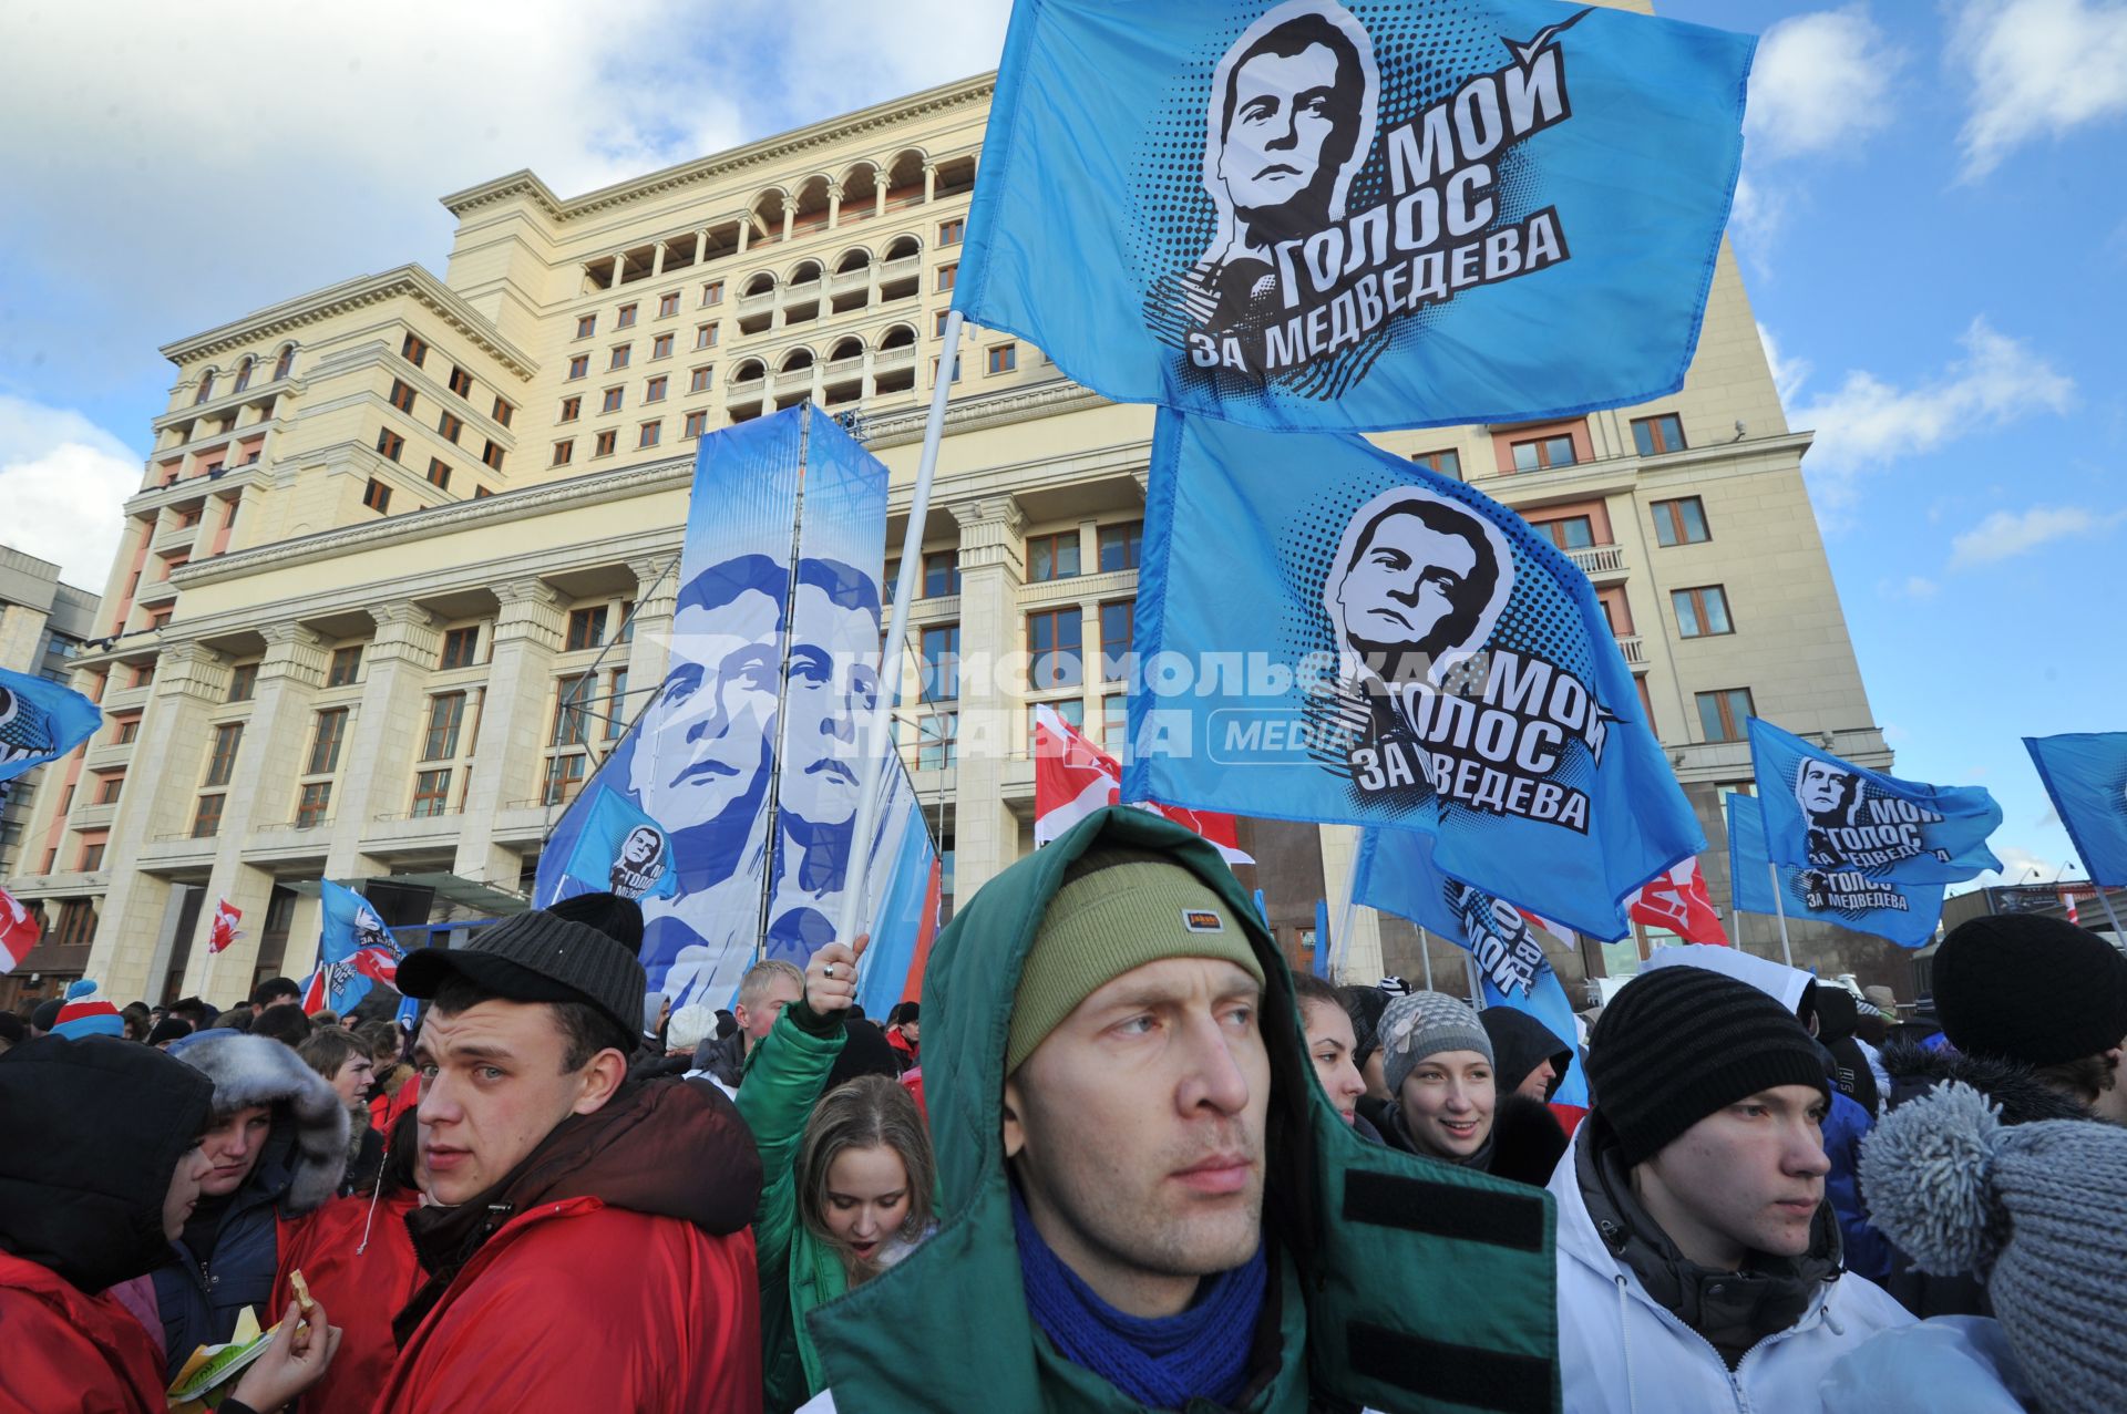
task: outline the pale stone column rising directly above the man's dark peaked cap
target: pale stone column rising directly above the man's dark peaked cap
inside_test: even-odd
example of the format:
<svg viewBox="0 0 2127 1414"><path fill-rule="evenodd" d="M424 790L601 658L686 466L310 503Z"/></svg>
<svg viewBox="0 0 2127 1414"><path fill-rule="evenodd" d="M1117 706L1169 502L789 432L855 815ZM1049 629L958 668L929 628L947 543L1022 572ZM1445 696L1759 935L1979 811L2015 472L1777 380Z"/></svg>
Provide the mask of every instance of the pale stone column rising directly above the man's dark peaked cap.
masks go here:
<svg viewBox="0 0 2127 1414"><path fill-rule="evenodd" d="M481 744L472 757L472 789L457 831L462 878L517 887L517 853L489 842L498 810L538 791L540 731L553 700L553 655L562 651L562 593L542 578L496 585L496 651L487 666Z"/></svg>

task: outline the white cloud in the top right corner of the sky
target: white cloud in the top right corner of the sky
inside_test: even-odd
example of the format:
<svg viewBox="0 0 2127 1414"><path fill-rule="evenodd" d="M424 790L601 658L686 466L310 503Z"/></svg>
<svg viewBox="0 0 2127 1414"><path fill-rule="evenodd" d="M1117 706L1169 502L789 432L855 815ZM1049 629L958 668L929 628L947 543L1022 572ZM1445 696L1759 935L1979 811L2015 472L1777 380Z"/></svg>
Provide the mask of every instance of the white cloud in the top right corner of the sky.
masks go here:
<svg viewBox="0 0 2127 1414"><path fill-rule="evenodd" d="M2121 0L1965 0L1948 51L1972 83L1967 181L2033 138L2127 113Z"/></svg>

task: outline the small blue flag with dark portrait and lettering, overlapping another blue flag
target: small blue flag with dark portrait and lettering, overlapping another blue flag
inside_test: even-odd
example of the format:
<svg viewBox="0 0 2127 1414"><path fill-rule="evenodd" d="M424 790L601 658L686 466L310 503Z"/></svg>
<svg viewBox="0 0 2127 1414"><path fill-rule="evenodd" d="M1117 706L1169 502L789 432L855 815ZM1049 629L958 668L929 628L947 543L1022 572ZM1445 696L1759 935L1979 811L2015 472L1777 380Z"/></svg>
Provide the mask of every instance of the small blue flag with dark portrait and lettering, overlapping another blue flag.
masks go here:
<svg viewBox="0 0 2127 1414"><path fill-rule="evenodd" d="M1921 785L1872 772L1751 719L1751 765L1765 846L1780 863L1902 885L1955 885L2002 861L1987 836L2002 806L1976 785Z"/></svg>

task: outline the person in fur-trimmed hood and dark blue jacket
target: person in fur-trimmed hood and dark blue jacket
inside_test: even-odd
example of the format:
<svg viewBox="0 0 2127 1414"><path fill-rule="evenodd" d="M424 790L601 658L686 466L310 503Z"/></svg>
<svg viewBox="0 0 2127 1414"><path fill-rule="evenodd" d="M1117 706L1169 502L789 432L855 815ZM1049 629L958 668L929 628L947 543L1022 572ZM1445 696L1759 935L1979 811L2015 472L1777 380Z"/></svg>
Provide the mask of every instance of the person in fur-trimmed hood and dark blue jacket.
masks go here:
<svg viewBox="0 0 2127 1414"><path fill-rule="evenodd" d="M170 1055L215 1082L202 1146L213 1169L170 1259L155 1269L170 1378L198 1346L230 1340L242 1308L270 1323L281 1223L330 1199L347 1165L347 1106L277 1040L198 1031Z"/></svg>

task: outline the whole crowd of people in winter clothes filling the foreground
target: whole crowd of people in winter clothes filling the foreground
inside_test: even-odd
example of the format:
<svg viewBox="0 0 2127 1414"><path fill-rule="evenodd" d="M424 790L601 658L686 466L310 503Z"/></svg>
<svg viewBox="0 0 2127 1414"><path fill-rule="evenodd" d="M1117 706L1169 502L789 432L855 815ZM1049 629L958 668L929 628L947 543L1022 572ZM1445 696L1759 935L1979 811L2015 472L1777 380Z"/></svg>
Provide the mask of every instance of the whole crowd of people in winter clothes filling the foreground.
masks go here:
<svg viewBox="0 0 2127 1414"><path fill-rule="evenodd" d="M1685 948L1559 1038L1293 976L1110 808L883 1025L864 938L672 1012L640 929L417 950L411 1036L0 1016L0 1412L162 1410L247 1310L225 1414L2127 1408L2127 955L2067 923L1953 931L1931 1016Z"/></svg>

